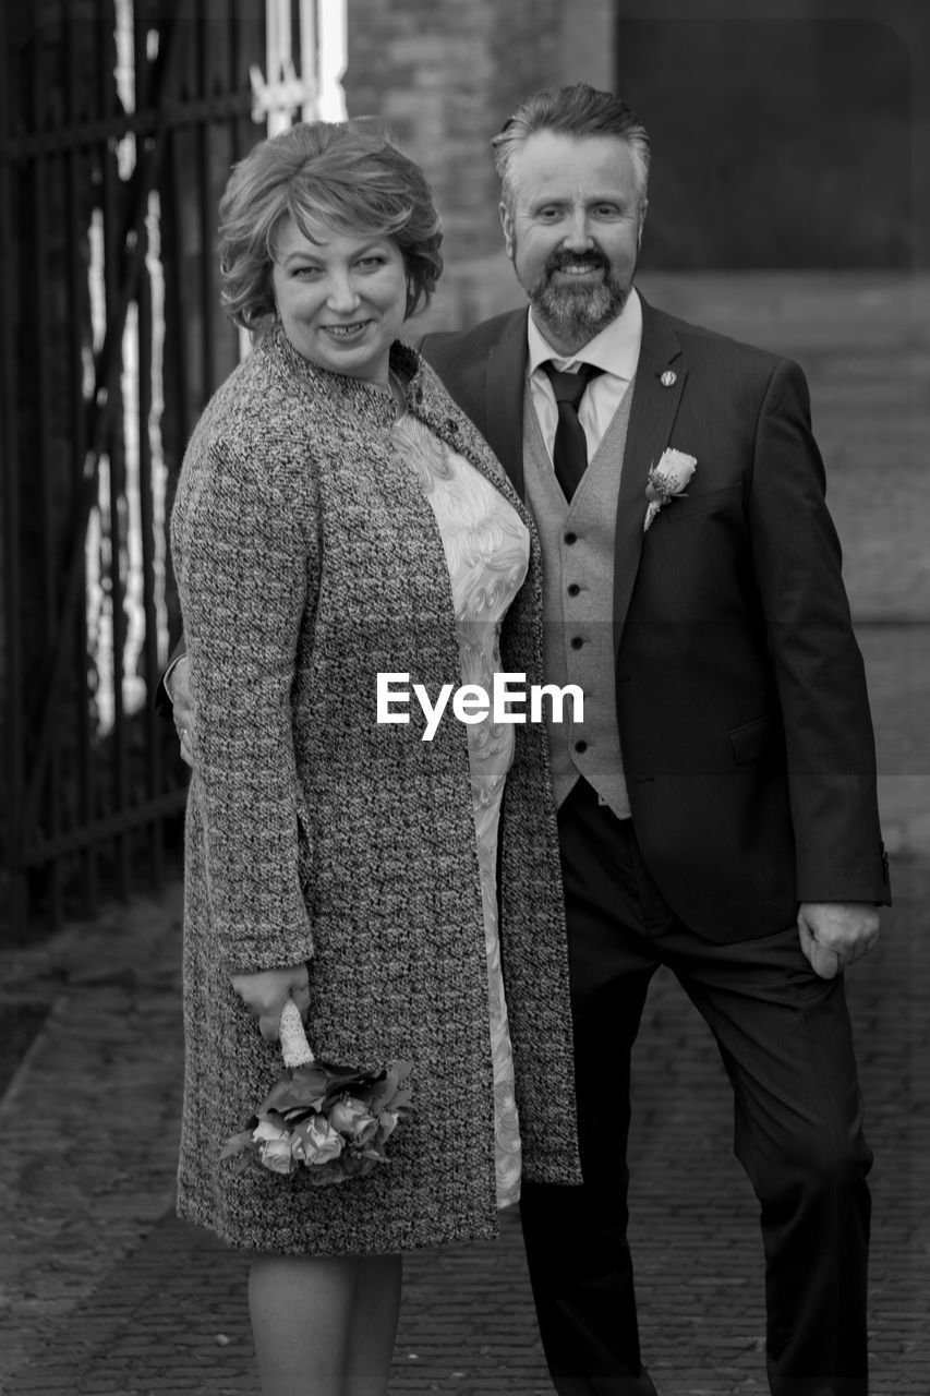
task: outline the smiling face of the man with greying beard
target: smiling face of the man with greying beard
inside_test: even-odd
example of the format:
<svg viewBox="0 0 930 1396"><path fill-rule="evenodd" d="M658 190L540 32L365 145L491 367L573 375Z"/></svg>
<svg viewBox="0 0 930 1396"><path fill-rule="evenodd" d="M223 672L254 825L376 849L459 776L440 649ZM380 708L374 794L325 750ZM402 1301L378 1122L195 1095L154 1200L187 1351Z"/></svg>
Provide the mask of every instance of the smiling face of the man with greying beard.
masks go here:
<svg viewBox="0 0 930 1396"><path fill-rule="evenodd" d="M536 131L514 154L500 212L533 318L553 348L580 349L633 286L645 202L630 144Z"/></svg>

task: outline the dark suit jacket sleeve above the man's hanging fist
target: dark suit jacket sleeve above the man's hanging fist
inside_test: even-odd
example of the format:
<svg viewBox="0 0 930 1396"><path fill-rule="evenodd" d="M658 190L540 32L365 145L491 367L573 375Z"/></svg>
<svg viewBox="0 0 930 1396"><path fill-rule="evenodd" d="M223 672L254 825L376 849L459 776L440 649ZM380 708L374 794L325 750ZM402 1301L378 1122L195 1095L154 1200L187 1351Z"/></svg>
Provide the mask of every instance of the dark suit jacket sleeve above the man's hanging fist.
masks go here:
<svg viewBox="0 0 930 1396"><path fill-rule="evenodd" d="M866 674L807 383L782 360L758 417L753 565L785 722L802 902L890 902Z"/></svg>

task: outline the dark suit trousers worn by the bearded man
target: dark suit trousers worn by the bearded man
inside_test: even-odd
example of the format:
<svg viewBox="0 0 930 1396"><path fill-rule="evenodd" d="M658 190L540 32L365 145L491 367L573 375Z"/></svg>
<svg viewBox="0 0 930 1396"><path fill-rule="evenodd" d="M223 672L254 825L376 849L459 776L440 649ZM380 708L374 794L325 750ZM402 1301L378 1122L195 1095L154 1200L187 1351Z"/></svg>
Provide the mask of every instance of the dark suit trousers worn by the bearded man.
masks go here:
<svg viewBox="0 0 930 1396"><path fill-rule="evenodd" d="M712 817L712 812L708 814ZM524 1184L521 1219L560 1396L655 1396L627 1244L630 1054L667 965L735 1097L735 1152L761 1208L772 1396L866 1396L871 1153L842 976L797 927L708 941L669 909L617 819L580 780L559 811L584 1185Z"/></svg>

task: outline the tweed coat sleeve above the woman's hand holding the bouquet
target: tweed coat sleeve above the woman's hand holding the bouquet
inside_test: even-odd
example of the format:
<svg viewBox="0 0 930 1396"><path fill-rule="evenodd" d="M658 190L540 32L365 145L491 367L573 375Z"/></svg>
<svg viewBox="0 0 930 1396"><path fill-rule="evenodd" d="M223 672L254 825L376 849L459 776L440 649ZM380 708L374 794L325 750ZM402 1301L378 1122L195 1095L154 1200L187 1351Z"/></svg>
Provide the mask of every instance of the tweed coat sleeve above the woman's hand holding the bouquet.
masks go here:
<svg viewBox="0 0 930 1396"><path fill-rule="evenodd" d="M191 796L230 973L313 953L290 715L297 638L309 623L303 512L250 462L211 444L191 451L172 517L197 708ZM302 853L306 867L306 846Z"/></svg>

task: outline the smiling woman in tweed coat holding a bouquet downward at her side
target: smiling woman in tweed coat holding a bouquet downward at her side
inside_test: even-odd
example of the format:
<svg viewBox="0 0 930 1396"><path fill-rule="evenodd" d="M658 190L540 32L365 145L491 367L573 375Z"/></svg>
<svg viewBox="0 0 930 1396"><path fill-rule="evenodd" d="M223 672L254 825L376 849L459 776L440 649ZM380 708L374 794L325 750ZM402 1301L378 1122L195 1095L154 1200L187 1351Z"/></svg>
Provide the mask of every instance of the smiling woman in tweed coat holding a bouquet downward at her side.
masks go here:
<svg viewBox="0 0 930 1396"><path fill-rule="evenodd" d="M233 170L223 297L267 332L207 406L172 518L197 708L179 1210L257 1252L267 1393L387 1390L401 1252L496 1234L521 1145L526 1177L580 1180L545 729L519 727L511 766L511 725L450 713L425 741L415 704L377 720L378 674L436 702L540 670L529 518L397 339L438 247L422 172L371 123L295 127ZM281 1075L289 997L321 1058L413 1062L415 1114L363 1178L219 1160Z"/></svg>

